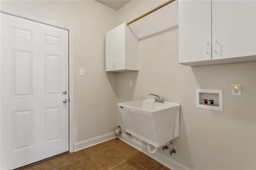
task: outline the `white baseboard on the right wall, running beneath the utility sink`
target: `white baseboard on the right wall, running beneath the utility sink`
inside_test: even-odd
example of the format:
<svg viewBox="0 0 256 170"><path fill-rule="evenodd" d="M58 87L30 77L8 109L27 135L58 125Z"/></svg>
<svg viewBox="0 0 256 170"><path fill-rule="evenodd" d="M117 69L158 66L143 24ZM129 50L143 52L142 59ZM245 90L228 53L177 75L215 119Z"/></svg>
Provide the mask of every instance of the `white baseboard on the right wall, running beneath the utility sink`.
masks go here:
<svg viewBox="0 0 256 170"><path fill-rule="evenodd" d="M172 170L191 170L190 168L180 164L179 162L176 162L175 160L170 159L160 152L156 152L154 154L148 153L147 146L136 140L133 136L128 136L127 134L122 133L120 139Z"/></svg>

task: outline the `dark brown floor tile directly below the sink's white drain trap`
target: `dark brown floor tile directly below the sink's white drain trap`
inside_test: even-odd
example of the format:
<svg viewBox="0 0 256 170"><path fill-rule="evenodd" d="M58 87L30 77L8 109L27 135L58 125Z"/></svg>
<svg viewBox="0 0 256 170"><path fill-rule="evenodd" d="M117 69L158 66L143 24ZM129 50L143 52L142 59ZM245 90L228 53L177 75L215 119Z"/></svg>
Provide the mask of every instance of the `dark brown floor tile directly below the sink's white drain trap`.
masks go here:
<svg viewBox="0 0 256 170"><path fill-rule="evenodd" d="M147 170L161 170L162 168L164 168L164 166L162 164L160 164L156 160L150 158L149 156L147 156L144 153L139 153L139 154L133 156L132 159L135 160L136 162L138 162L138 164L140 164Z"/></svg>

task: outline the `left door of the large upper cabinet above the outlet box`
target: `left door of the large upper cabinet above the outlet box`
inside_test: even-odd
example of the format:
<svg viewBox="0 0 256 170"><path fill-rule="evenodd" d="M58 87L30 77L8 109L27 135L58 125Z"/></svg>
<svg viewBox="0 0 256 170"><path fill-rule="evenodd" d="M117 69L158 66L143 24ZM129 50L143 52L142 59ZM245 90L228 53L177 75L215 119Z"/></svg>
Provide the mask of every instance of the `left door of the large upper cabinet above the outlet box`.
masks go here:
<svg viewBox="0 0 256 170"><path fill-rule="evenodd" d="M179 0L179 62L212 59L211 0Z"/></svg>

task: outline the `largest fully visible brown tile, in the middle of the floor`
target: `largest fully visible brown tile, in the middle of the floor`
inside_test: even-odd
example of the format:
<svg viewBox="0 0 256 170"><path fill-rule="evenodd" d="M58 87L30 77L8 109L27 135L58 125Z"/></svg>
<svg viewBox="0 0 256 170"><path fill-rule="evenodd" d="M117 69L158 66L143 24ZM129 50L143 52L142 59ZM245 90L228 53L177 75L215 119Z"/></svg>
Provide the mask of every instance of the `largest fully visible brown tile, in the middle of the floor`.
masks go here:
<svg viewBox="0 0 256 170"><path fill-rule="evenodd" d="M91 158L94 159L103 170L110 169L129 159L114 147L98 152L97 154L93 154Z"/></svg>

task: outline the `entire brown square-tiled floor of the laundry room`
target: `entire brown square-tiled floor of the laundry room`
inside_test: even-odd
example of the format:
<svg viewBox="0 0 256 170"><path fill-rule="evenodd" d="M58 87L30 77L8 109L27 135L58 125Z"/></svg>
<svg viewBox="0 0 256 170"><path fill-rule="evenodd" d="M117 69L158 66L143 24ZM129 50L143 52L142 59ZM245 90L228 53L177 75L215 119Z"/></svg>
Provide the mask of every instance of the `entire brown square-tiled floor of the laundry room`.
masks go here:
<svg viewBox="0 0 256 170"><path fill-rule="evenodd" d="M24 170L170 170L116 138Z"/></svg>

